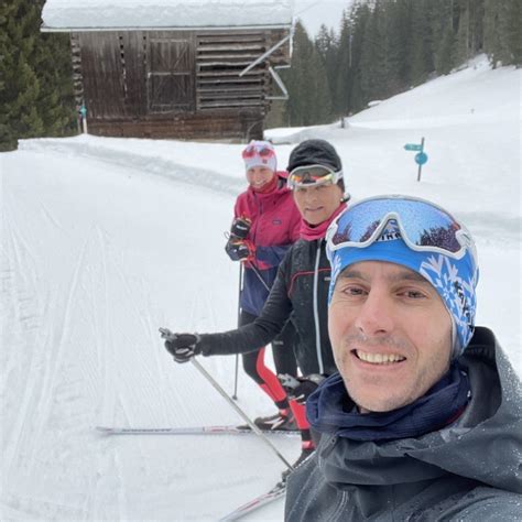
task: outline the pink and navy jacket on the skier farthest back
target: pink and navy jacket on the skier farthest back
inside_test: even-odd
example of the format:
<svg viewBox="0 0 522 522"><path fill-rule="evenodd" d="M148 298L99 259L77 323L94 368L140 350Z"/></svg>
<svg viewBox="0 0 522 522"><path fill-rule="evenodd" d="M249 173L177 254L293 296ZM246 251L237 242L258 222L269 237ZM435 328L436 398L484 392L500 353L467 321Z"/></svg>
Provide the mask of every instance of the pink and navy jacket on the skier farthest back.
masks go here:
<svg viewBox="0 0 522 522"><path fill-rule="evenodd" d="M289 248L300 236L301 214L295 206L292 192L286 187L286 173L278 172L279 186L268 194L254 192L252 187L241 193L233 207L235 218L251 221L247 239L255 247L252 265L258 273L244 265L241 308L259 315L278 274L278 267ZM259 275L263 279L260 281Z"/></svg>

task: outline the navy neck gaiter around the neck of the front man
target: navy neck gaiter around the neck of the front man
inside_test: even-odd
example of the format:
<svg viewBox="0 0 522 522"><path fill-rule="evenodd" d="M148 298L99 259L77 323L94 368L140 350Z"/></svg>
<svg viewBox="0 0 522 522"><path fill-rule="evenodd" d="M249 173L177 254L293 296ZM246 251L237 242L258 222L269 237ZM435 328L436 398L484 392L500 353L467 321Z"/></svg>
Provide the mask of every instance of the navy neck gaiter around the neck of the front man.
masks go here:
<svg viewBox="0 0 522 522"><path fill-rule="evenodd" d="M412 404L391 412L361 414L336 372L306 400L306 415L312 428L320 433L351 441L395 441L420 437L450 424L470 396L468 376L453 361L448 372Z"/></svg>

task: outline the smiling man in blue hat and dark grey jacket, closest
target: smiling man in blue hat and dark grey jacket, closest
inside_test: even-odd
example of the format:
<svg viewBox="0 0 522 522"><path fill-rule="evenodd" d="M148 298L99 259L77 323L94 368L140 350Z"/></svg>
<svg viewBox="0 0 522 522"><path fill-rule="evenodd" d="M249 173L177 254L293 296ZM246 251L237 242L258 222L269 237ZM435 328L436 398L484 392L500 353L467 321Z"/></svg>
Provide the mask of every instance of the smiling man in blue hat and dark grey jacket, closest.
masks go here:
<svg viewBox="0 0 522 522"><path fill-rule="evenodd" d="M406 196L352 205L327 233L338 372L307 400L320 434L287 521L522 520L521 383L475 328L470 233Z"/></svg>

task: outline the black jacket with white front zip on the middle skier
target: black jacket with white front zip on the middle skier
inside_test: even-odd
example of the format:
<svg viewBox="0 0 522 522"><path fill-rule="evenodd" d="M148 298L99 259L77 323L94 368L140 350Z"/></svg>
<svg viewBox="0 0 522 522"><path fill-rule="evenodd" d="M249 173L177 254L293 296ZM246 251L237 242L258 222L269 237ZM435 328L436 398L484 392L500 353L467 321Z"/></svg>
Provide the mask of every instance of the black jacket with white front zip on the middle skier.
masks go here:
<svg viewBox="0 0 522 522"><path fill-rule="evenodd" d="M222 334L203 334L204 356L244 354L269 344L291 317L297 330L295 357L303 376L329 376L337 369L327 329L330 267L325 240L300 239L279 267L270 295L258 318Z"/></svg>

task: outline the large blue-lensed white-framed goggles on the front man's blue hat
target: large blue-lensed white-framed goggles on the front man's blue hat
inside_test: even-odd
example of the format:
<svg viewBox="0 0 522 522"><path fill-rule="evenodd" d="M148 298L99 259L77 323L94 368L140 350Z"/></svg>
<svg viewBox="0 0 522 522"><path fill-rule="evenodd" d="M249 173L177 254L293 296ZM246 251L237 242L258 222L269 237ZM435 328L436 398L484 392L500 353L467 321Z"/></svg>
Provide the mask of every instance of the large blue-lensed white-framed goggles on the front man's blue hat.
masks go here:
<svg viewBox="0 0 522 522"><path fill-rule="evenodd" d="M385 240L389 221L396 224L389 233L402 239L412 250L438 252L454 259L469 252L477 267L477 251L468 229L442 207L407 196L378 196L351 205L328 229L328 250L362 249Z"/></svg>

